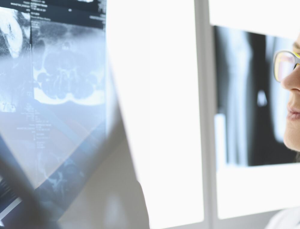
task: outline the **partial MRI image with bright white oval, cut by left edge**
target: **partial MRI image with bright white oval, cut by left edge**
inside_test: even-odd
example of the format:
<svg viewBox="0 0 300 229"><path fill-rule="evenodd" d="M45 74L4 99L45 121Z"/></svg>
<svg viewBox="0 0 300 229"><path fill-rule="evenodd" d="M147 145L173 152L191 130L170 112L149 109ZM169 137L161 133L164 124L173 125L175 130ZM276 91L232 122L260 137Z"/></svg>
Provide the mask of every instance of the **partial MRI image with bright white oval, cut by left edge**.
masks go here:
<svg viewBox="0 0 300 229"><path fill-rule="evenodd" d="M29 41L30 14L0 7L0 112L16 112L30 90Z"/></svg>

